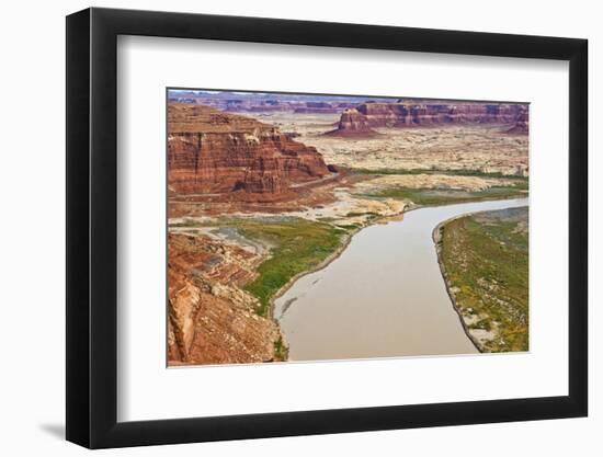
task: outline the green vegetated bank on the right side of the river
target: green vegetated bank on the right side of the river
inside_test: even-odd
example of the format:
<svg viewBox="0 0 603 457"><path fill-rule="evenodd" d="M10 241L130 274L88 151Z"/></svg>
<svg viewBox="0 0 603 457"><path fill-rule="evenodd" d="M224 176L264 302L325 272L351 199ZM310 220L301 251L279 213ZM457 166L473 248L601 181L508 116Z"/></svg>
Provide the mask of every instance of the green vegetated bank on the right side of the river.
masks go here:
<svg viewBox="0 0 603 457"><path fill-rule="evenodd" d="M456 305L485 352L528 349L527 208L466 216L442 229L441 259Z"/></svg>

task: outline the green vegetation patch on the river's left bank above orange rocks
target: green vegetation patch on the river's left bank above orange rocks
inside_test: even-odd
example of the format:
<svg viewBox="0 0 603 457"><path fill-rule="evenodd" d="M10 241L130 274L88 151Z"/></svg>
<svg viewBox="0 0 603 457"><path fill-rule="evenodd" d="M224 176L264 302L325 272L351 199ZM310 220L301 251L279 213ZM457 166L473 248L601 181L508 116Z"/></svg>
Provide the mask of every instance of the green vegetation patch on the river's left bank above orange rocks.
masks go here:
<svg viewBox="0 0 603 457"><path fill-rule="evenodd" d="M259 276L244 286L260 300L258 313L266 316L270 299L294 276L318 266L343 242L344 229L306 219L244 221L242 236L272 245L271 258L258 267Z"/></svg>

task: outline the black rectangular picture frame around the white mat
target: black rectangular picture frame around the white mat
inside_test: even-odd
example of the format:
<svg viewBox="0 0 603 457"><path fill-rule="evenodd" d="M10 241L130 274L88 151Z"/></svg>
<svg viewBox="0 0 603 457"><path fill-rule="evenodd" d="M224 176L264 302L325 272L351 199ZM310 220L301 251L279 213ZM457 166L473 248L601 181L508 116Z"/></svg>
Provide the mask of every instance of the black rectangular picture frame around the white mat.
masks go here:
<svg viewBox="0 0 603 457"><path fill-rule="evenodd" d="M569 61L568 396L117 422L118 35ZM90 448L584 416L585 39L87 9L67 16L67 439Z"/></svg>

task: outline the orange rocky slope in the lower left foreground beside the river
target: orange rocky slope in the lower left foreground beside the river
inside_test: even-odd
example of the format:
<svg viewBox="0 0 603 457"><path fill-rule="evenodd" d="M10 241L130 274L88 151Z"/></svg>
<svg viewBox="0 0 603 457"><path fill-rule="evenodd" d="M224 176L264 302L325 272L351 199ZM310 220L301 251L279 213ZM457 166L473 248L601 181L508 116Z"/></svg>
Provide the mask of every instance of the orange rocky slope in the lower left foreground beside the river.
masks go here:
<svg viewBox="0 0 603 457"><path fill-rule="evenodd" d="M168 237L169 365L278 359L276 323L241 289L259 255L207 236Z"/></svg>

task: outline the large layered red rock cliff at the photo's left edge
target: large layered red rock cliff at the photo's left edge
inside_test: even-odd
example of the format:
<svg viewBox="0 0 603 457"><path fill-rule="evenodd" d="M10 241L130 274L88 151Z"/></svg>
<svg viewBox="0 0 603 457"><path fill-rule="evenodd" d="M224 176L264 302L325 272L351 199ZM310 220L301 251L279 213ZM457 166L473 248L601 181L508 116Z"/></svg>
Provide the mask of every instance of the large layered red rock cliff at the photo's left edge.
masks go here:
<svg viewBox="0 0 603 457"><path fill-rule="evenodd" d="M330 172L314 147L251 117L168 105L169 188L178 194L278 198Z"/></svg>

